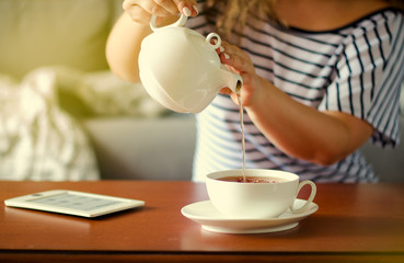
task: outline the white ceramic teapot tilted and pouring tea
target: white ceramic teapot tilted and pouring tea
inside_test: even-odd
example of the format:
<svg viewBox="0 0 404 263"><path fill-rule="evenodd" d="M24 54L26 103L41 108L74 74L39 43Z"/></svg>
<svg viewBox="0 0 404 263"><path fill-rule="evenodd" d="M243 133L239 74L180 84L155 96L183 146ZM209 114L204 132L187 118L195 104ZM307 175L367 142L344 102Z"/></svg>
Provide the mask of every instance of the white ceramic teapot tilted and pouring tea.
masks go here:
<svg viewBox="0 0 404 263"><path fill-rule="evenodd" d="M221 88L240 90L242 79L220 62L215 50L221 45L220 36L210 33L205 38L184 27L186 20L181 15L175 23L157 27L155 15L151 18L153 33L141 43L139 75L150 96L165 107L198 113ZM211 44L215 38L216 44Z"/></svg>

